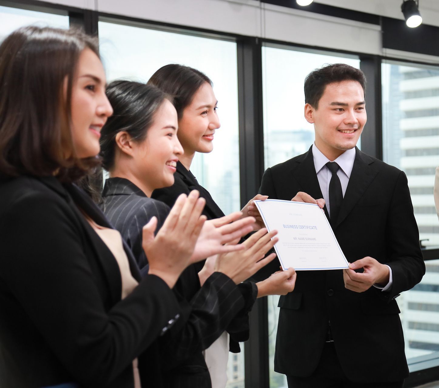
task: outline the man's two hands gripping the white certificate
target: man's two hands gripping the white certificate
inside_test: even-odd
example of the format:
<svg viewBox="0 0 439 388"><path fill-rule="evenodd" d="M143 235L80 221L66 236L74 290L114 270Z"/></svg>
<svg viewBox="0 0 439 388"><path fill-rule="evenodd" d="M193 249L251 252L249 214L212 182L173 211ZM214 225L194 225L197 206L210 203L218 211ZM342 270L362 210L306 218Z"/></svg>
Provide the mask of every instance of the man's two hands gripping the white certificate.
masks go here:
<svg viewBox="0 0 439 388"><path fill-rule="evenodd" d="M325 206L323 198L314 199L306 192L298 192L291 201L315 203L321 209ZM255 214L253 207L248 212L249 215ZM363 272L355 272L355 270L360 268L363 268ZM389 267L381 264L373 257L363 257L363 259L349 263L349 268L343 270L343 280L345 281L345 288L354 292L364 292L373 285L384 287L389 283Z"/></svg>

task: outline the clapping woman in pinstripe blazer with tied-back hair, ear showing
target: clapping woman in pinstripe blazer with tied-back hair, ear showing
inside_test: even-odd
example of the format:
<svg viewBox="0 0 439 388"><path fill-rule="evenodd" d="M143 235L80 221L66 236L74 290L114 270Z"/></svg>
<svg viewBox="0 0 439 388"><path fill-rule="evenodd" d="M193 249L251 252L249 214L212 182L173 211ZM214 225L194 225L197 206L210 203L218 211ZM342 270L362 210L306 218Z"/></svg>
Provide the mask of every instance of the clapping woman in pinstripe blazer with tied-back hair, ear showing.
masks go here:
<svg viewBox="0 0 439 388"><path fill-rule="evenodd" d="M141 226L151 217L157 217L160 226L169 212L166 204L149 197L154 189L173 184L183 151L176 136L176 111L159 89L137 82L112 82L107 96L115 113L101 131L101 156L111 176L105 182L101 206L145 271L147 257L139 249ZM209 222L225 224L238 217L241 213ZM288 280L292 270L282 279L261 282L259 290L254 283L241 283L263 265L256 261L273 246L276 238L272 237L261 230L243 244L242 261L227 253L219 260L207 260L201 270L188 267L180 276L174 292L187 307L186 315L155 344L151 375L152 370L162 374L160 381L153 381L154 387L211 387L202 351L225 329L238 341L248 338L248 311L258 291L266 292L277 283L282 283L284 292L294 287L294 280Z"/></svg>

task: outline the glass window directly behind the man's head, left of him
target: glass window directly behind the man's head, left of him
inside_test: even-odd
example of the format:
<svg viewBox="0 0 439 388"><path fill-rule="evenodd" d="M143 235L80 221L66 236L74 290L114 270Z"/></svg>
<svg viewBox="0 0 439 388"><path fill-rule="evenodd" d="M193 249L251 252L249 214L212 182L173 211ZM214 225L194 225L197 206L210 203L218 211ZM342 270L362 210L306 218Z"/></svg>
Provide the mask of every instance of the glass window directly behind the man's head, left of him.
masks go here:
<svg viewBox="0 0 439 388"><path fill-rule="evenodd" d="M305 117L303 83L324 64L346 63L360 68L358 57L265 46L262 49L265 168L306 152L314 142L314 127ZM367 130L367 128L366 128ZM268 297L270 388L287 387L284 374L274 372L279 297Z"/></svg>

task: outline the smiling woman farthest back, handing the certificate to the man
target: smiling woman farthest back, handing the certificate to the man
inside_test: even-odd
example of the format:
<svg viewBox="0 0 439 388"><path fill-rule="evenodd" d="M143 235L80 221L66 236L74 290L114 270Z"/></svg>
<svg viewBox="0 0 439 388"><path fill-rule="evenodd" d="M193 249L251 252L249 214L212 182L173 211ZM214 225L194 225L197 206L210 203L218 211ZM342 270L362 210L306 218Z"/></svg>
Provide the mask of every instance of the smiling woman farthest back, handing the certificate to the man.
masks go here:
<svg viewBox="0 0 439 388"><path fill-rule="evenodd" d="M209 153L212 151L213 135L215 129L219 128L219 118L216 113L217 100L213 93L212 81L196 69L179 64L169 64L158 69L152 75L148 84L157 86L173 97L173 104L178 115L178 138L184 151L176 165L174 184L170 187L155 190L152 197L166 203L168 206L172 206L179 195L196 189L200 192L200 196L206 200L203 214L208 219L222 217L223 212L216 205L212 196L197 182L197 179L190 171L191 162L196 152ZM252 215L257 219L258 228L263 227L263 222L252 201L266 198L266 196L258 194L241 210L243 217ZM241 253L236 252L234 255L236 260L239 260ZM292 291L295 281L295 274L293 275L293 273L292 268L285 273L277 273L276 276L281 277L281 281L277 284L280 289L273 288L269 292L263 292L261 286L258 297L270 294L285 294ZM290 287L281 289L282 281L288 279ZM230 336L230 351L239 351L239 344L234 341L232 335ZM215 365L218 358L215 352L211 352L209 355L212 359L212 365ZM213 382L214 388L225 386L226 371L224 369L217 368L216 381Z"/></svg>

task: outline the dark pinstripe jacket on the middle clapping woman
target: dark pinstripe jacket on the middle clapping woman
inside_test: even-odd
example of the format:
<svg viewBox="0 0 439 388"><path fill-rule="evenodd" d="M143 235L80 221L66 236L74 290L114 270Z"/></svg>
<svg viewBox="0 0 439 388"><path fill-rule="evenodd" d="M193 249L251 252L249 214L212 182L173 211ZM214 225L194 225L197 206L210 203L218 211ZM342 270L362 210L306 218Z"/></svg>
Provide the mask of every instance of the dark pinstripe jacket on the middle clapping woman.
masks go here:
<svg viewBox="0 0 439 388"><path fill-rule="evenodd" d="M169 207L148 198L136 185L123 178L108 179L102 196L104 213L121 232L139 265L145 265L147 258L141 248L142 228L153 216L158 218L161 227ZM180 276L174 292L183 313L172 330L156 343L156 352L151 352L151 376L157 368L162 370L160 381L155 380L151 386L210 387L202 350L207 349L226 328L241 330L241 321L256 298L257 288L252 283L236 286L230 278L218 272L200 287L198 271L190 266Z"/></svg>

